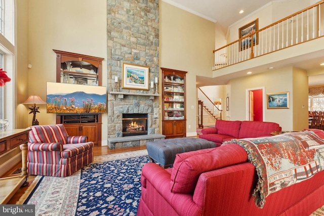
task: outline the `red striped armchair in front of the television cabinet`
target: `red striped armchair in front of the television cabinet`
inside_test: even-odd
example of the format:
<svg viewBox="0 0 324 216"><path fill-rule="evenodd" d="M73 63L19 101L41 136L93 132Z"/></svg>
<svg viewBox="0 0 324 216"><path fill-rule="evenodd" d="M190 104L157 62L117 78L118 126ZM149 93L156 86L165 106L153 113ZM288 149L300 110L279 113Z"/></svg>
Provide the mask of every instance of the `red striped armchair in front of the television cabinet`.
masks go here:
<svg viewBox="0 0 324 216"><path fill-rule="evenodd" d="M69 137L63 124L29 127L28 174L66 177L93 161L87 136Z"/></svg>

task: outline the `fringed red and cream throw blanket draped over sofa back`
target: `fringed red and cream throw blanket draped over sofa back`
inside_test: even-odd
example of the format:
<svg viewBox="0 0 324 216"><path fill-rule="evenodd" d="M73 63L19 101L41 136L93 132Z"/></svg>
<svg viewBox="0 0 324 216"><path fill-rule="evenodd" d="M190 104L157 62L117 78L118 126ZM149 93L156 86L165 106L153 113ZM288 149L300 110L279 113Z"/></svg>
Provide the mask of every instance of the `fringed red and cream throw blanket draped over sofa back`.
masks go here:
<svg viewBox="0 0 324 216"><path fill-rule="evenodd" d="M309 179L324 169L324 140L313 132L232 140L224 144L227 143L244 148L256 167L258 182L252 195L259 208L264 206L269 194Z"/></svg>

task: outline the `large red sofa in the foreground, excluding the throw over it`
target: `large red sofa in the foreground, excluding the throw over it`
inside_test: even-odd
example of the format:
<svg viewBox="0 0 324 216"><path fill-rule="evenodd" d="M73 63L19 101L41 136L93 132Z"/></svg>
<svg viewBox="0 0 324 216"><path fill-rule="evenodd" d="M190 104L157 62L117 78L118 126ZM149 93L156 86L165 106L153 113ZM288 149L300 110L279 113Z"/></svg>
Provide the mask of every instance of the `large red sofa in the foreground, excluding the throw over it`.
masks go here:
<svg viewBox="0 0 324 216"><path fill-rule="evenodd" d="M263 208L252 193L255 166L237 144L177 154L174 167L142 168L137 215L309 215L324 205L324 171L266 197Z"/></svg>

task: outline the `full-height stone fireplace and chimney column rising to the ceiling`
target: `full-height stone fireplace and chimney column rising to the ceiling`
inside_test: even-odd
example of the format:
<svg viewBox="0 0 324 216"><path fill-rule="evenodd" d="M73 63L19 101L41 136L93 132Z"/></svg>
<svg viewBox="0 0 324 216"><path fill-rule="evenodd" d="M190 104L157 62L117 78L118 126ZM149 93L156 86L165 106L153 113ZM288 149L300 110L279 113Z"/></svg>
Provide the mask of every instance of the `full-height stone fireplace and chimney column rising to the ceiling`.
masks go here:
<svg viewBox="0 0 324 216"><path fill-rule="evenodd" d="M164 139L165 136L159 134L160 96L153 94L150 87L148 90L123 88L124 62L149 67L148 83L159 77L159 1L120 0L108 3L108 147L142 146L149 141ZM147 134L124 136L123 114L145 114ZM143 127L137 129L140 131Z"/></svg>

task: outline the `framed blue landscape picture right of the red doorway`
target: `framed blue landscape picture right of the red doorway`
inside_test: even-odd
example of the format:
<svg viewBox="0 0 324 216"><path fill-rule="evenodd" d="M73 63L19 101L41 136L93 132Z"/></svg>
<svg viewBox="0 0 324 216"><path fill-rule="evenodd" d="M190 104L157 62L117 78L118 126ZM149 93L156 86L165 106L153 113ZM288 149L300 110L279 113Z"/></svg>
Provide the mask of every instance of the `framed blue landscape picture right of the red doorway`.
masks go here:
<svg viewBox="0 0 324 216"><path fill-rule="evenodd" d="M289 92L267 94L267 109L289 109Z"/></svg>

